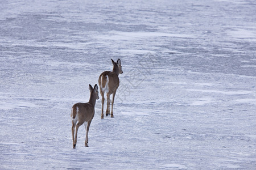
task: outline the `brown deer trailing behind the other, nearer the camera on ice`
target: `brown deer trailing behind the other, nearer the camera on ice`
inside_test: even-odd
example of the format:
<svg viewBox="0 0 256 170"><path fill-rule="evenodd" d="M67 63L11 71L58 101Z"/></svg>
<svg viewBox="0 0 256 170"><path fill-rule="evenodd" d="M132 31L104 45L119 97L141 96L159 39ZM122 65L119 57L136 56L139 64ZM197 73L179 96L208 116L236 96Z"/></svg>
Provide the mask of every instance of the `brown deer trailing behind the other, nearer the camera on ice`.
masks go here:
<svg viewBox="0 0 256 170"><path fill-rule="evenodd" d="M90 123L94 117L94 107L96 100L100 99L98 96L98 86L95 84L94 88L89 84L90 90L90 99L88 103L76 103L71 109L71 118L72 118L72 139L73 139L73 148L76 148L77 142L77 131L79 126L84 124L86 130L85 137L85 146L88 147L88 131L90 128ZM75 136L76 130L76 136Z"/></svg>

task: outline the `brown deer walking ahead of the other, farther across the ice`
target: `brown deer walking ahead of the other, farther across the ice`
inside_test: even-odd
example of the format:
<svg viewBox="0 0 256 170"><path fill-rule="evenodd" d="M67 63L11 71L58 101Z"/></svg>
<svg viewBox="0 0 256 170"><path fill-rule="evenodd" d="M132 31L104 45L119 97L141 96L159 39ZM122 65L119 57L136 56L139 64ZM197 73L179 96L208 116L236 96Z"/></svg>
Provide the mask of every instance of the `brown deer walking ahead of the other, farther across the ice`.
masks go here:
<svg viewBox="0 0 256 170"><path fill-rule="evenodd" d="M113 71L104 71L101 73L100 77L98 78L98 84L100 86L100 92L101 92L101 118L104 118L104 94L106 92L107 96L107 108L106 108L106 116L109 114L109 108L110 108L110 95L112 95L112 108L111 108L111 117L114 117L113 114L113 105L114 105L114 98L115 93L117 92L117 88L119 87L119 78L118 75L123 73L122 66L121 66L121 59L117 59L117 62L114 62L113 59L111 59L113 64Z"/></svg>

